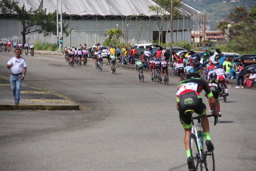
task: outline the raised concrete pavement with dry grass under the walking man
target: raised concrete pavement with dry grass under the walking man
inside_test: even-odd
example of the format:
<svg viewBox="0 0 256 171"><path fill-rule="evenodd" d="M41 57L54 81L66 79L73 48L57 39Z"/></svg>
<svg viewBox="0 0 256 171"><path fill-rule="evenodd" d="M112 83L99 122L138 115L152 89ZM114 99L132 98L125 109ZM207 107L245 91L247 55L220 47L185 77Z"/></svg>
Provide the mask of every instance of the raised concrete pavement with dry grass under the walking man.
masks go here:
<svg viewBox="0 0 256 171"><path fill-rule="evenodd" d="M78 104L63 103L65 99L62 97L26 86L22 86L19 105L15 105L10 81L4 78L0 78L0 89L0 110L79 110ZM31 99L41 99L43 103L29 102Z"/></svg>

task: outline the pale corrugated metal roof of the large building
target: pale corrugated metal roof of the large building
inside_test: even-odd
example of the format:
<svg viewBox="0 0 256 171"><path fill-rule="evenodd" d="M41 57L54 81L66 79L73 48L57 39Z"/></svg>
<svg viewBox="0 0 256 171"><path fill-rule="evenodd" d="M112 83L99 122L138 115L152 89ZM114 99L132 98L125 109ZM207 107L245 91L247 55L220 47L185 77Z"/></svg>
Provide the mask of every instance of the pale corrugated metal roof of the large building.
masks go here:
<svg viewBox="0 0 256 171"><path fill-rule="evenodd" d="M17 2L19 2L20 6L25 4L26 9L32 8L35 10L41 0L17 0ZM132 16L143 14L143 16L155 16L156 12L149 11L148 6L150 5L154 5L151 0L62 0L62 12L70 15ZM57 1L44 0L43 7L47 9L47 13L52 13L57 8ZM182 15L200 13L186 4L177 9ZM58 10L60 13L60 0L58 0Z"/></svg>

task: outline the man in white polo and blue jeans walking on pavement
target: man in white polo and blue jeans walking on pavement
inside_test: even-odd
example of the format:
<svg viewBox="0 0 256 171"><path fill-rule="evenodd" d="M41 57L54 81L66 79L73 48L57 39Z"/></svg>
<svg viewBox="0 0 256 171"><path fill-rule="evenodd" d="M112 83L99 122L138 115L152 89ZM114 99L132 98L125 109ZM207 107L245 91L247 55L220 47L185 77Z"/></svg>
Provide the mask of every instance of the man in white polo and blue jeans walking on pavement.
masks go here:
<svg viewBox="0 0 256 171"><path fill-rule="evenodd" d="M19 94L21 89L22 80L24 80L26 71L27 71L27 63L24 58L20 57L21 50L15 50L15 56L11 57L7 63L7 68L11 68L10 74L10 84L13 91L13 96L15 97L15 104L19 104ZM22 74L22 68L24 68L24 72Z"/></svg>

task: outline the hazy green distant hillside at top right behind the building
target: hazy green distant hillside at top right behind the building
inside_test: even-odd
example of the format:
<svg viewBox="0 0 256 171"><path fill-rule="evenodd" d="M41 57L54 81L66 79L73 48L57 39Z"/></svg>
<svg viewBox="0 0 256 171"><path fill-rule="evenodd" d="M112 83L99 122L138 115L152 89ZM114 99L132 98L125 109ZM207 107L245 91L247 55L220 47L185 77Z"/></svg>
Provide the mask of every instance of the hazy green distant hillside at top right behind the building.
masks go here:
<svg viewBox="0 0 256 171"><path fill-rule="evenodd" d="M210 25L210 30L212 30L218 18L225 19L226 12L230 12L235 7L243 6L250 12L251 8L255 6L255 0L184 0L183 3L198 11L206 10L204 14L207 15L207 25Z"/></svg>

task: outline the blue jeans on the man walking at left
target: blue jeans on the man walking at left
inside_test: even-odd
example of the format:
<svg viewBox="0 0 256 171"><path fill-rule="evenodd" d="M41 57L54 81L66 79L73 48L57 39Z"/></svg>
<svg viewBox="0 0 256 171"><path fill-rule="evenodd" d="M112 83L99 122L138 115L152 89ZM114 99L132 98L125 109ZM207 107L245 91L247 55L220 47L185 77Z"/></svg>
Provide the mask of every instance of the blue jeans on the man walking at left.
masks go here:
<svg viewBox="0 0 256 171"><path fill-rule="evenodd" d="M13 92L13 96L15 97L14 101L19 102L19 93L21 88L21 80L22 75L14 76L10 75L10 84Z"/></svg>

